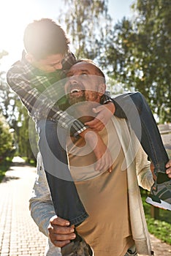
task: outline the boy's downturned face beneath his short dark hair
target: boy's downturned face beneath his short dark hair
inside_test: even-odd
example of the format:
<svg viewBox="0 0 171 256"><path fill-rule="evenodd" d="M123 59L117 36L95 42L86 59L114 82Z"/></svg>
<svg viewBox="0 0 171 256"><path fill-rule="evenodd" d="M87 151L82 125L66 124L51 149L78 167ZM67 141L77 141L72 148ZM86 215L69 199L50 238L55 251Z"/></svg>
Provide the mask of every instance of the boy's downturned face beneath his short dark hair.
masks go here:
<svg viewBox="0 0 171 256"><path fill-rule="evenodd" d="M61 61L63 58L64 55L62 54L54 54L47 56L46 59L40 59L38 61L33 58L29 62L34 67L37 67L37 69L40 69L46 73L51 73L55 72L57 69L62 69Z"/></svg>

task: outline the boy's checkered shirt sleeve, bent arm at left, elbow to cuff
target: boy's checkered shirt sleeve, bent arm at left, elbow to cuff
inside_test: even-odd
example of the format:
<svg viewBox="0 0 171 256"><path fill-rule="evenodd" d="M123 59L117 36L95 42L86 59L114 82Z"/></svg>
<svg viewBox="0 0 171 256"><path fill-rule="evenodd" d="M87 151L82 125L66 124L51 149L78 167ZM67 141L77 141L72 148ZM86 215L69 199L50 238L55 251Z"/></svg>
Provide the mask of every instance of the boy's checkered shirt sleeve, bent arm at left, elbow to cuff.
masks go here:
<svg viewBox="0 0 171 256"><path fill-rule="evenodd" d="M79 135L86 129L83 123L54 106L53 100L50 100L45 94L39 94L39 91L31 86L26 75L20 72L18 67L13 66L9 69L7 83L18 94L32 117L36 119L50 118L57 121L65 129L70 129L72 135Z"/></svg>

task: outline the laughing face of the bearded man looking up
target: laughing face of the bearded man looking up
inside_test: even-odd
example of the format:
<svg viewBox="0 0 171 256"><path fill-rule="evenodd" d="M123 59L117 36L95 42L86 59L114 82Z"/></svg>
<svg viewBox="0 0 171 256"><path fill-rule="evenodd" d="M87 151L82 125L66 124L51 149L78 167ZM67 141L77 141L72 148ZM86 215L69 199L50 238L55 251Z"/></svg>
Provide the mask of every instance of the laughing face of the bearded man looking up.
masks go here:
<svg viewBox="0 0 171 256"><path fill-rule="evenodd" d="M104 78L93 64L79 62L69 69L67 77L65 93L71 105L81 101L100 102L105 91Z"/></svg>

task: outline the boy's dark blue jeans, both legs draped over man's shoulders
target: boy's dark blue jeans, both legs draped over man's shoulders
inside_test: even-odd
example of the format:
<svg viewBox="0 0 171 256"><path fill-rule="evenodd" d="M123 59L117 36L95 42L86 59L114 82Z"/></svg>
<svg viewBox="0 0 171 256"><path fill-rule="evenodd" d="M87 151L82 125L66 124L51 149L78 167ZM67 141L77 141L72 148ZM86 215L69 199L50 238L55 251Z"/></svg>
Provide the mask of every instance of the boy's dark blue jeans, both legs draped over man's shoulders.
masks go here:
<svg viewBox="0 0 171 256"><path fill-rule="evenodd" d="M139 92L122 94L113 99L116 105L115 116L127 118L139 138L142 147L155 165L156 172L165 173L165 164L168 162L167 152L164 149L159 129L153 118L151 109L145 98ZM132 108L140 115L142 135L140 138L140 127L137 127ZM66 130L50 120L41 120L37 123L39 133L39 150L45 167L47 182L58 217L68 219L71 225L80 225L88 214L80 197L77 194L75 183L69 173L66 157ZM58 172L58 173L55 173Z"/></svg>

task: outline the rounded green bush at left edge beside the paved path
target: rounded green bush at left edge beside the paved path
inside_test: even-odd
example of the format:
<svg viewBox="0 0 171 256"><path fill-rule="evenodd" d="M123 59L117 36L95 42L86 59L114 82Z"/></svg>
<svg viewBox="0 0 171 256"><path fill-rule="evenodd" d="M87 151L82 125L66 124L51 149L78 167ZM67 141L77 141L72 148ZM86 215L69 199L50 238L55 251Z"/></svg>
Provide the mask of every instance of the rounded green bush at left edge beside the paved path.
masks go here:
<svg viewBox="0 0 171 256"><path fill-rule="evenodd" d="M13 138L4 116L0 115L0 157L3 159L12 152Z"/></svg>

